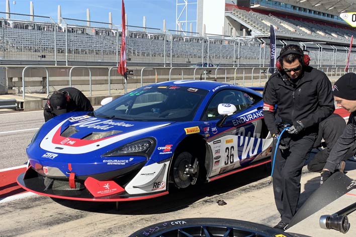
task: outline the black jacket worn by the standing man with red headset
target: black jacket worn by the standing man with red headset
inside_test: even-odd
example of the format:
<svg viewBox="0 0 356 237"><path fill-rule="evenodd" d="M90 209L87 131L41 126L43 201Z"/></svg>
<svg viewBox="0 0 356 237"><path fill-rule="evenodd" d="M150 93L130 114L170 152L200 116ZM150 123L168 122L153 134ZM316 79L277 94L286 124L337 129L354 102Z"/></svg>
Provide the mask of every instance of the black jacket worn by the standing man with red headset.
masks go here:
<svg viewBox="0 0 356 237"><path fill-rule="evenodd" d="M329 78L309 66L304 66L296 83L285 73L272 74L264 86L263 102L264 121L271 133L279 132L279 118L302 121L305 128L313 127L317 132L318 124L335 110Z"/></svg>

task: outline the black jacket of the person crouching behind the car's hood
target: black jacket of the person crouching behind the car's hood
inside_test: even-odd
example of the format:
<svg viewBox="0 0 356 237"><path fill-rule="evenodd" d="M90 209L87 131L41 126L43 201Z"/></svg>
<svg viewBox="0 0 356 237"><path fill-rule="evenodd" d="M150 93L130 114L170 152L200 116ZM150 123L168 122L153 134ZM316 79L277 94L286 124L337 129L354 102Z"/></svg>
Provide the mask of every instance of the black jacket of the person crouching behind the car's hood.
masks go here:
<svg viewBox="0 0 356 237"><path fill-rule="evenodd" d="M78 89L74 87L67 87L59 89L58 91L63 92L67 91L69 94L69 101L67 102L67 112L73 111L93 111L94 108L88 98ZM51 110L48 108L48 104L45 104L44 108L44 118L45 122L50 120L52 117L56 116Z"/></svg>

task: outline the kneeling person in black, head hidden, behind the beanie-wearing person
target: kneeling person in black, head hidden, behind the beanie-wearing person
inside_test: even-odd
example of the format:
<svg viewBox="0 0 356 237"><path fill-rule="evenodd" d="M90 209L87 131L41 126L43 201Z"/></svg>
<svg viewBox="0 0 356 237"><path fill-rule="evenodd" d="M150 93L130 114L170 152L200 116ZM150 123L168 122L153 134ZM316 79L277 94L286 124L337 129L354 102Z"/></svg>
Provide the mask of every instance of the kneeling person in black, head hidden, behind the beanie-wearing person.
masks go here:
<svg viewBox="0 0 356 237"><path fill-rule="evenodd" d="M343 117L336 113L332 113L325 120L319 124L319 134L314 143L314 148L319 149L323 147L308 163L308 170L311 172L321 172L326 164L326 160L329 157L330 151L336 144L337 139L342 135L343 130L346 127ZM321 140L324 139L324 142ZM352 157L356 152L356 144L348 149L345 156L338 164L337 170L344 172L345 161Z"/></svg>

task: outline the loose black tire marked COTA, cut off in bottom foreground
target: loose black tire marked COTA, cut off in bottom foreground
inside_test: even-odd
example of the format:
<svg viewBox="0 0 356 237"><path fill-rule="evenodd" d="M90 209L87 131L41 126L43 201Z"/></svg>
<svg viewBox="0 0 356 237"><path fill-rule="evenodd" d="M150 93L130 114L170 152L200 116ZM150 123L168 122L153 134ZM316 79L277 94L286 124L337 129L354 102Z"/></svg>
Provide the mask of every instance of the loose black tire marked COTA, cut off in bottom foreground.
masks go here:
<svg viewBox="0 0 356 237"><path fill-rule="evenodd" d="M279 229L249 221L225 218L182 218L169 220L144 227L129 237L184 237L184 236L270 236L292 237Z"/></svg>

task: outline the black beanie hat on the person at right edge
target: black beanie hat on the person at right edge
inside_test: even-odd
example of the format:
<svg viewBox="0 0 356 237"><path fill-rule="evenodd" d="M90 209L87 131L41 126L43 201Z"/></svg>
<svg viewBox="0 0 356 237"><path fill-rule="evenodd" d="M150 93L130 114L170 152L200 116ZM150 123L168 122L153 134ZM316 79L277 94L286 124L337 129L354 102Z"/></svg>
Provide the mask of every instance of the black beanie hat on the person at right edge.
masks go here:
<svg viewBox="0 0 356 237"><path fill-rule="evenodd" d="M356 100L356 74L349 72L341 76L332 87L332 94L343 99Z"/></svg>

